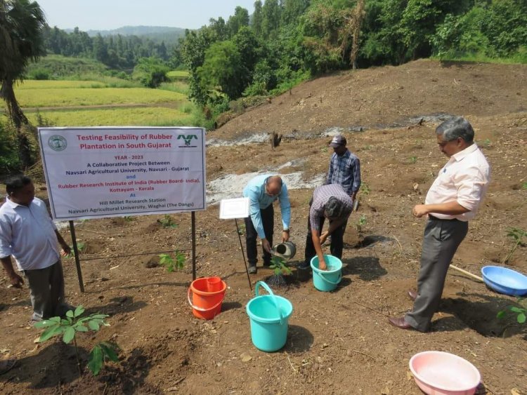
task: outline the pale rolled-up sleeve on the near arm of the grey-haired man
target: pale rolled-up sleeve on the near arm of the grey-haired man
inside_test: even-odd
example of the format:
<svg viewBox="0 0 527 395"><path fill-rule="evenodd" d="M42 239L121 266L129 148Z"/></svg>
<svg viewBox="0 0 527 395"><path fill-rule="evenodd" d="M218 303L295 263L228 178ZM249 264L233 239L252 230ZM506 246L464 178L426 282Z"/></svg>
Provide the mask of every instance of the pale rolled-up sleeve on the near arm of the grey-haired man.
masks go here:
<svg viewBox="0 0 527 395"><path fill-rule="evenodd" d="M457 203L474 211L483 197L488 179L479 168L469 167L455 177L454 184L457 187Z"/></svg>

